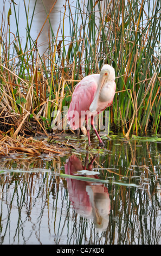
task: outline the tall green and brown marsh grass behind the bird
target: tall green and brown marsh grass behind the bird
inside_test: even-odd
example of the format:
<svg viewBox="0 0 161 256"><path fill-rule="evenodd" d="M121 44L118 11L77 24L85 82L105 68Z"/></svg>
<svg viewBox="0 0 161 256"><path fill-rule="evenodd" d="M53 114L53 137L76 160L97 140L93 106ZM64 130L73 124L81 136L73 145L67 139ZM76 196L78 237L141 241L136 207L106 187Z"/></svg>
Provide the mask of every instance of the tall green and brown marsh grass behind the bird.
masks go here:
<svg viewBox="0 0 161 256"><path fill-rule="evenodd" d="M65 118L63 107L69 106L76 83L99 72L104 63L111 64L117 76L117 93L110 107L111 130L126 136L130 132L157 135L161 131L159 0L82 0L75 1L75 12L68 0L56 34L49 20L51 14L47 14L48 51L42 56L37 47L40 34L36 40L30 36L37 1L30 20L29 7L23 1L27 20L24 49L18 29L20 10L15 2L11 2L14 13L2 10L0 27L1 131L14 136L47 135L52 131L53 117L58 122L60 114ZM16 34L10 31L11 16L16 20ZM69 33L65 22L69 22Z"/></svg>

